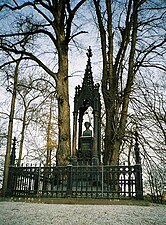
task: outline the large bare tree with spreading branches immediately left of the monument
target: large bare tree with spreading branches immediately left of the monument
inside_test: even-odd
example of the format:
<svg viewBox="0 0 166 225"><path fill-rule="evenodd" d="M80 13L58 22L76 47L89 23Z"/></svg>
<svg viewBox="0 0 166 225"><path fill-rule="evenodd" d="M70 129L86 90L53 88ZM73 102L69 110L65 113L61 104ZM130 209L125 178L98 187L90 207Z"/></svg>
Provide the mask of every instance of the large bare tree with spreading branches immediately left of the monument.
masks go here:
<svg viewBox="0 0 166 225"><path fill-rule="evenodd" d="M59 125L59 147L57 158L59 164L67 164L70 158L70 107L68 93L68 45L69 42L78 34L71 34L71 27L74 16L78 9L86 0L80 0L71 8L70 1L62 0L40 0L27 1L20 3L14 1L13 4L1 4L0 11L20 11L22 17L19 22L21 29L6 32L0 35L1 50L8 50L11 53L23 54L26 59L34 61L43 70L53 77L56 82L58 100L58 125ZM27 14L26 9L32 12ZM33 16L38 17L38 21L33 20ZM20 27L20 26L19 26ZM43 38L44 43L39 41ZM37 40L40 47L34 50L30 48L18 48L25 40ZM33 45L34 46L34 45ZM39 49L41 51L39 51ZM45 54L44 54L45 53ZM46 62L46 53L50 53L52 59ZM43 57L44 55L44 57ZM49 54L48 54L49 55ZM50 63L51 62L51 63Z"/></svg>

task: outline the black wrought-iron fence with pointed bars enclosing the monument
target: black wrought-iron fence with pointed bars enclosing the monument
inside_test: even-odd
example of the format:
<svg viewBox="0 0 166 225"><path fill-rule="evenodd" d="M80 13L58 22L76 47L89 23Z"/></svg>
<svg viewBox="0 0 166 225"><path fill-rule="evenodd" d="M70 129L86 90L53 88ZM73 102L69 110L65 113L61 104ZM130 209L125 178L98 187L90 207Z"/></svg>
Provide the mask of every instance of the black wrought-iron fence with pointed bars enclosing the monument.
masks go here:
<svg viewBox="0 0 166 225"><path fill-rule="evenodd" d="M7 194L34 197L143 198L141 165L9 168Z"/></svg>

